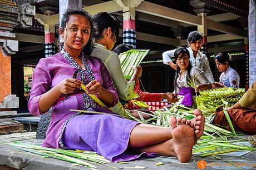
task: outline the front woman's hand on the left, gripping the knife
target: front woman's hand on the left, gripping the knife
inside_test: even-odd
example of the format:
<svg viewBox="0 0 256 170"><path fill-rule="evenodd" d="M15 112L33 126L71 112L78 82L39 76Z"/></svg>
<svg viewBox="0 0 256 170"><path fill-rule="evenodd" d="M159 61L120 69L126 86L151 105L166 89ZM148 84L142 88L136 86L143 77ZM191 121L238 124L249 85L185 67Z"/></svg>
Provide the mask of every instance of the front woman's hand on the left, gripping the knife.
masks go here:
<svg viewBox="0 0 256 170"><path fill-rule="evenodd" d="M76 88L80 88L81 83L80 80L75 78L65 78L57 85L57 87L61 93L67 94L73 93Z"/></svg>

